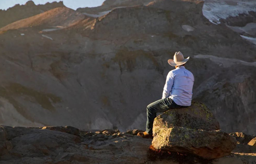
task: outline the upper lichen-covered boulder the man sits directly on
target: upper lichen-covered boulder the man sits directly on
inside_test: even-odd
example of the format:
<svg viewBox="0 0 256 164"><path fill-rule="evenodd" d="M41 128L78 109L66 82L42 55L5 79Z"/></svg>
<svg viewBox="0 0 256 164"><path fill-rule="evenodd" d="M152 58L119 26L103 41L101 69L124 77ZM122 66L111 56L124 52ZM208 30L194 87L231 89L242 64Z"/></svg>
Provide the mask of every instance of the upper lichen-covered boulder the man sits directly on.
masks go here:
<svg viewBox="0 0 256 164"><path fill-rule="evenodd" d="M193 101L191 106L170 109L154 119L153 134L162 128L175 126L194 130L219 130L220 124L204 104Z"/></svg>

